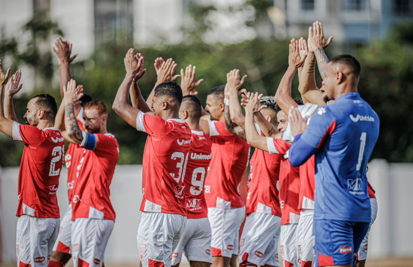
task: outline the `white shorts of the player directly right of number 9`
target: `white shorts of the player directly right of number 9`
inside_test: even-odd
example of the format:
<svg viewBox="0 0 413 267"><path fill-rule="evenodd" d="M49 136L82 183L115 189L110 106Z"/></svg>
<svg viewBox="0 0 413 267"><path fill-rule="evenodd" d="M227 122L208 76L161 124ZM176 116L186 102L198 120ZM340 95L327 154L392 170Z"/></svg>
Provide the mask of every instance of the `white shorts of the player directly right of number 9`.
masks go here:
<svg viewBox="0 0 413 267"><path fill-rule="evenodd" d="M245 206L241 208L208 208L211 225L212 257L238 255L239 230L245 218Z"/></svg>

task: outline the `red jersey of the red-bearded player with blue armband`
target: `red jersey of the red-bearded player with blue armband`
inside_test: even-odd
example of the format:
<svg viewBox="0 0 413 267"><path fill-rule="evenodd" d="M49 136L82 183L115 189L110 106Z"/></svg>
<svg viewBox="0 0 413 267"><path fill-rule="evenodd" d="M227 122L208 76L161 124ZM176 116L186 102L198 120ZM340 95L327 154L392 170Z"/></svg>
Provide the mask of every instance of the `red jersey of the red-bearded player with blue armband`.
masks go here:
<svg viewBox="0 0 413 267"><path fill-rule="evenodd" d="M115 220L109 186L119 160L118 141L112 134L83 132L81 158L76 168L72 221L76 218Z"/></svg>

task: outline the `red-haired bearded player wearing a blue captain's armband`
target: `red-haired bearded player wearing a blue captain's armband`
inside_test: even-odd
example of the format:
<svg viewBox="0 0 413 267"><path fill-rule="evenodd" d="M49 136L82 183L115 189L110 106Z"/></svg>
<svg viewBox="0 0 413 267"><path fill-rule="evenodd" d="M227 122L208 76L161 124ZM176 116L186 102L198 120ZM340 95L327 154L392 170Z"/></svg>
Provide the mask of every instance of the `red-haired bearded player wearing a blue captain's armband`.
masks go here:
<svg viewBox="0 0 413 267"><path fill-rule="evenodd" d="M109 186L119 159L119 145L115 136L107 133L107 107L101 101L85 104L85 131L79 128L74 105L81 96L82 93L76 94L76 82L70 80L64 88L64 124L70 142L83 150L76 163L77 179L71 201L71 253L75 267L102 266L115 221Z"/></svg>

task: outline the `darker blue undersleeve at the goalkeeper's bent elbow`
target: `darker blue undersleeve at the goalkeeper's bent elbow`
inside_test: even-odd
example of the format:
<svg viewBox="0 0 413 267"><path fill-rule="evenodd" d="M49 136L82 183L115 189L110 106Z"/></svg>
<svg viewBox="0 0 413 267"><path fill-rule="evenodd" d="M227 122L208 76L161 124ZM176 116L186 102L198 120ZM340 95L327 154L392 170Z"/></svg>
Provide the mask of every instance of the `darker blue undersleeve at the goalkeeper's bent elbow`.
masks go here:
<svg viewBox="0 0 413 267"><path fill-rule="evenodd" d="M318 150L300 137L301 134L295 135L294 142L289 147L288 160L293 167L303 165Z"/></svg>

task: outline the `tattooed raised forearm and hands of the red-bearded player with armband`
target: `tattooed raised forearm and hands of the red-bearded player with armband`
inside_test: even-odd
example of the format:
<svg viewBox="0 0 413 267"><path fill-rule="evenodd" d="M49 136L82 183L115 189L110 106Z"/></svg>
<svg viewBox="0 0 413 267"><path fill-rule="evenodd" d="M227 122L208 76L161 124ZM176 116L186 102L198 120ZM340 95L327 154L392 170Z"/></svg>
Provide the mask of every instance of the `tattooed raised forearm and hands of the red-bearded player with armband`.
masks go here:
<svg viewBox="0 0 413 267"><path fill-rule="evenodd" d="M81 144L83 141L83 131L80 130L79 124L74 113L74 106L80 104L80 98L83 96L83 87L76 87L76 81L71 79L67 86L63 87L64 92L64 126L66 134L71 142ZM61 116L61 115L60 115Z"/></svg>

